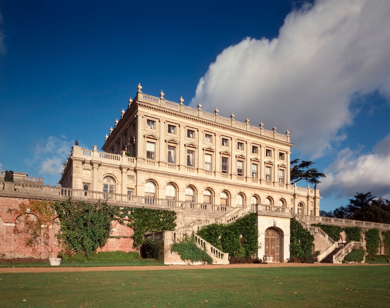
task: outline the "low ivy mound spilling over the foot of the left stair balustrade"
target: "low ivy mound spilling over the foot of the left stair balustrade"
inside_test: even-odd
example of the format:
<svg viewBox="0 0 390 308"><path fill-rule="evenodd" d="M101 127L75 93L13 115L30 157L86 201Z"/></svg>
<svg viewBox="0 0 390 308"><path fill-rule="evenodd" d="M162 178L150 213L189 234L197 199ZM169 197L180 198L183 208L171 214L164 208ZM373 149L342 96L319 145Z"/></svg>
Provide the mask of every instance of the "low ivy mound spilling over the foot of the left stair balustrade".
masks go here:
<svg viewBox="0 0 390 308"><path fill-rule="evenodd" d="M174 243L171 246L171 252L179 254L183 261L189 260L191 262L213 263L212 257L196 246L194 236L187 236L183 238L181 242Z"/></svg>

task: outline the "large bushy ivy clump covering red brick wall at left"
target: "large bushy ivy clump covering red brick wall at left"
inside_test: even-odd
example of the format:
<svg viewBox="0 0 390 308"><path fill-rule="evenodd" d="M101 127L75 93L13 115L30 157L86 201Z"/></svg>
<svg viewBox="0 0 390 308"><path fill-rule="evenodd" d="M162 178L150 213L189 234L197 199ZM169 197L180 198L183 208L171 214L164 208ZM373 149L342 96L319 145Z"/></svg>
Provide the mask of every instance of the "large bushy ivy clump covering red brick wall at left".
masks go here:
<svg viewBox="0 0 390 308"><path fill-rule="evenodd" d="M71 198L56 202L60 228L57 233L59 244L65 254L94 254L98 247L103 247L110 236L111 221L120 213L118 206L85 203Z"/></svg>

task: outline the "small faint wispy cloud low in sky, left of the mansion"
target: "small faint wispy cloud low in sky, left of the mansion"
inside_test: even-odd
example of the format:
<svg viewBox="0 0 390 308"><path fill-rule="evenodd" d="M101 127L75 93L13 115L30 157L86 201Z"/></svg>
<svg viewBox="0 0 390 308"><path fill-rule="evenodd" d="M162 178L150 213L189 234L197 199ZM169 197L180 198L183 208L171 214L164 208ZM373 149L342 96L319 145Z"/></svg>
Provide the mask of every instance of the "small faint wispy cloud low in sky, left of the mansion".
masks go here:
<svg viewBox="0 0 390 308"><path fill-rule="evenodd" d="M38 165L41 175L60 175L62 162L68 157L71 146L72 142L67 141L65 136L50 136L34 146L34 159L29 164Z"/></svg>

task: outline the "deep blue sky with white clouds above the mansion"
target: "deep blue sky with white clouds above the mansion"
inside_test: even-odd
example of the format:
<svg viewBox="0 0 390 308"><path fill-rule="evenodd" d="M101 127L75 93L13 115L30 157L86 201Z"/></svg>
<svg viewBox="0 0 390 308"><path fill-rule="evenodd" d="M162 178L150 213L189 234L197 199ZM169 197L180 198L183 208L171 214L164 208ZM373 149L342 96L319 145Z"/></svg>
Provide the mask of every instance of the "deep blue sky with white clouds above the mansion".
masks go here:
<svg viewBox="0 0 390 308"><path fill-rule="evenodd" d="M390 199L390 2L0 1L0 169L55 185L145 93L289 129L321 209ZM304 182L298 182L305 186Z"/></svg>

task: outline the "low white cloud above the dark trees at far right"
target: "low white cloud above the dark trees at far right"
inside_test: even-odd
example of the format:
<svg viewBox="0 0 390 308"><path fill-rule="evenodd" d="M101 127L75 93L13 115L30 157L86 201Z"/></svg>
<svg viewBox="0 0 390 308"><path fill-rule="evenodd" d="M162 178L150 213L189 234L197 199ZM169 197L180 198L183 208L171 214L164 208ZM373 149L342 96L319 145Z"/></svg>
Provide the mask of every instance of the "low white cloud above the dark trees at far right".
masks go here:
<svg viewBox="0 0 390 308"><path fill-rule="evenodd" d="M324 171L327 177L319 184L321 194L343 198L370 191L377 197L390 199L390 135L371 153L361 154L361 150L345 148L339 152Z"/></svg>

